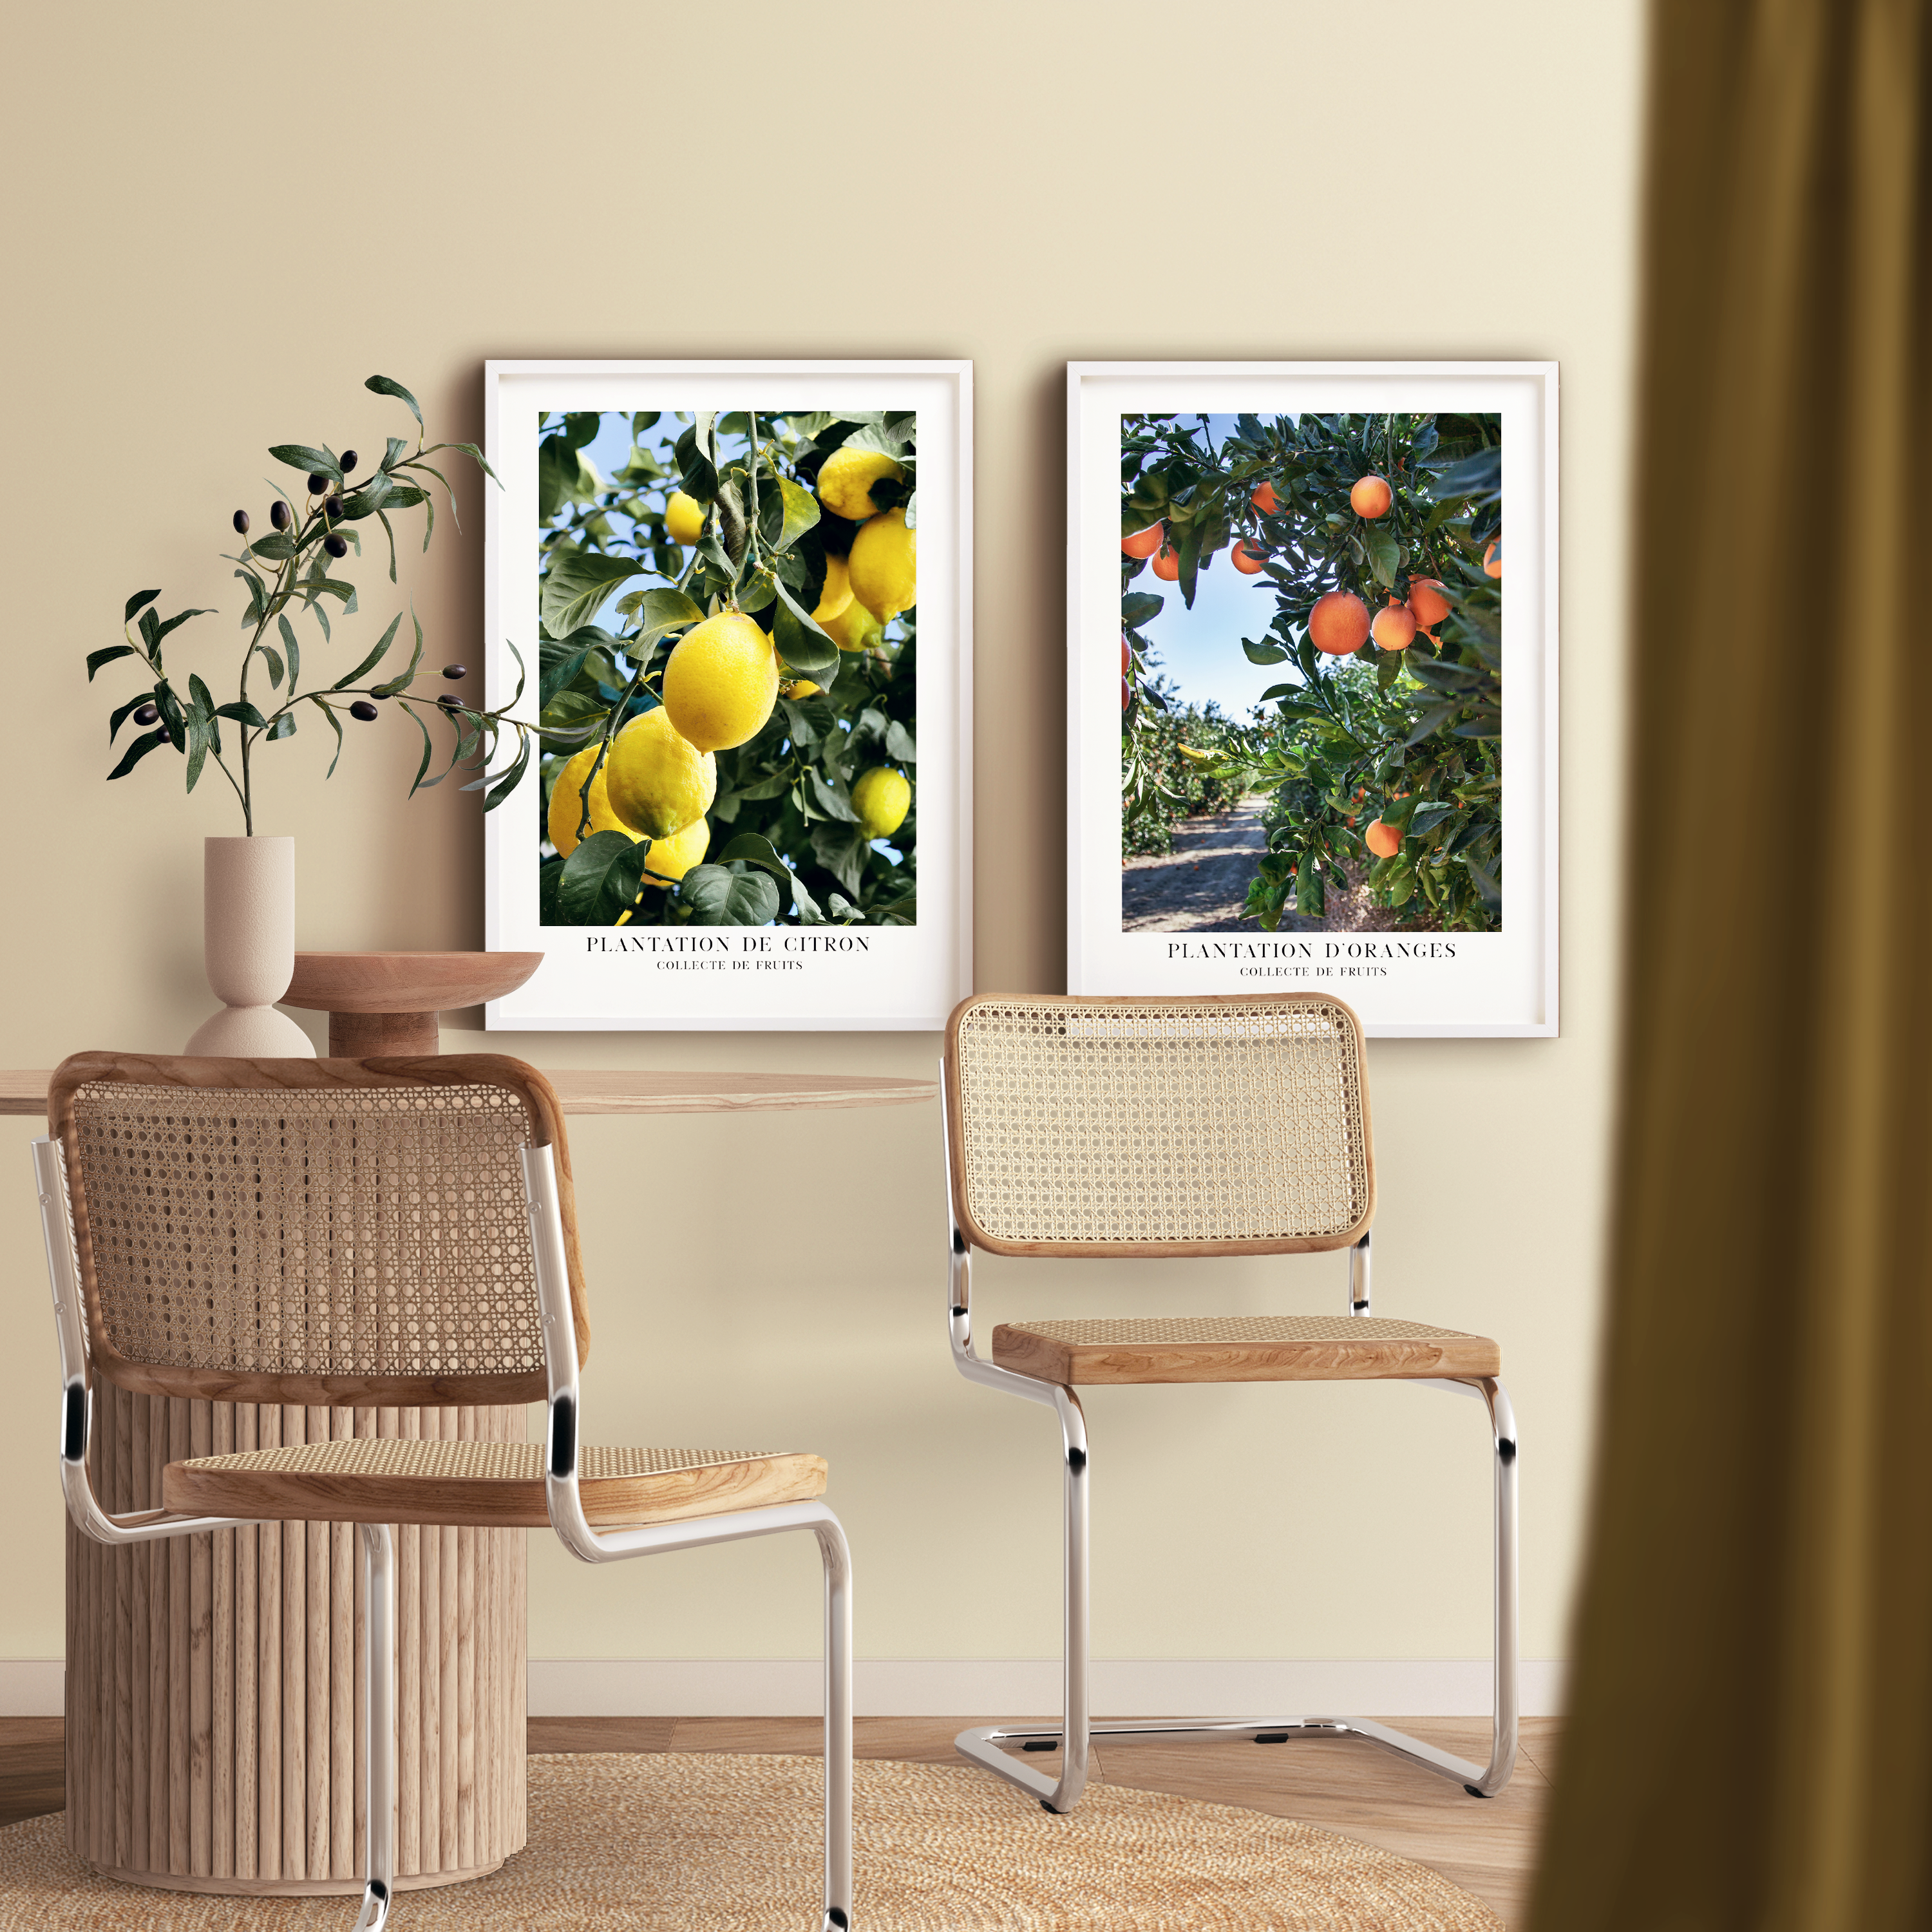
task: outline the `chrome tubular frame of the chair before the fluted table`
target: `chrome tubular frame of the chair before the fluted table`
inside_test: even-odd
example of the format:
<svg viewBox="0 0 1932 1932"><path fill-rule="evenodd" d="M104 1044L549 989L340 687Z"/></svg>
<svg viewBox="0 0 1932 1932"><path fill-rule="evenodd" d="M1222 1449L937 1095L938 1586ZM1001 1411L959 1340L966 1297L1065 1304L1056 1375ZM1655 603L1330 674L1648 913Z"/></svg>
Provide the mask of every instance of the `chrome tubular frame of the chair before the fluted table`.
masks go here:
<svg viewBox="0 0 1932 1932"><path fill-rule="evenodd" d="M33 1142L41 1196L41 1235L60 1335L60 1488L68 1515L99 1544L147 1544L164 1536L247 1528L259 1517L176 1517L164 1509L112 1517L100 1509L87 1474L93 1435L87 1327L73 1254L73 1215L60 1142ZM690 1522L593 1530L578 1488L578 1343L570 1318L570 1269L551 1148L524 1148L524 1190L535 1256L549 1378L545 1501L551 1526L585 1563L616 1563L667 1549L811 1530L825 1567L825 1913L821 1932L852 1924L852 1555L825 1503L784 1503ZM396 1565L388 1524L361 1522L363 1580L369 1602L369 1671L363 1681L363 1777L369 1793L367 1864L355 1932L388 1922L396 1872Z"/></svg>

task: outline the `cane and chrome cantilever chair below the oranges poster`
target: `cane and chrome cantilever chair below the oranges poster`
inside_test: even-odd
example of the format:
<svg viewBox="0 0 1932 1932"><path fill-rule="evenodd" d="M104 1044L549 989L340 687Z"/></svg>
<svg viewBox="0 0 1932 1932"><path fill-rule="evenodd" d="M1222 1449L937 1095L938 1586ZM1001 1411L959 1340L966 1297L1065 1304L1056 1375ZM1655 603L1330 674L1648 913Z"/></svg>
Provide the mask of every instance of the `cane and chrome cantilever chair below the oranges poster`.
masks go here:
<svg viewBox="0 0 1932 1932"><path fill-rule="evenodd" d="M1059 1725L962 1731L976 1764L1051 1812L1080 1801L1088 1741L1362 1737L1495 1797L1517 1758L1517 1426L1482 1335L1370 1314L1376 1163L1354 1012L1320 993L1204 999L980 997L947 1026L952 1360L1059 1416L1065 1468L1065 1712ZM972 1343L972 1250L1003 1256L1349 1252L1341 1316L1010 1321ZM1364 1718L1094 1723L1088 1716L1088 1459L1076 1393L1094 1383L1379 1381L1474 1395L1495 1468L1495 1718L1468 1764ZM1053 1752L1047 1777L1001 1747Z"/></svg>

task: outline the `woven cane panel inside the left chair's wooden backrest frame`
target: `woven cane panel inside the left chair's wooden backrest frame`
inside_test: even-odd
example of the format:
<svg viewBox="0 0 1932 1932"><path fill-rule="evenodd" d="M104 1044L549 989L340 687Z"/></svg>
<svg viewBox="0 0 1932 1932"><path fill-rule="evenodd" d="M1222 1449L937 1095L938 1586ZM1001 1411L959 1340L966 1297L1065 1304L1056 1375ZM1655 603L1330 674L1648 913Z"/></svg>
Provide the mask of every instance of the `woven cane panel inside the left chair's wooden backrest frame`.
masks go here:
<svg viewBox="0 0 1932 1932"><path fill-rule="evenodd" d="M541 1372L529 1140L485 1084L85 1082L70 1175L100 1325L180 1368Z"/></svg>

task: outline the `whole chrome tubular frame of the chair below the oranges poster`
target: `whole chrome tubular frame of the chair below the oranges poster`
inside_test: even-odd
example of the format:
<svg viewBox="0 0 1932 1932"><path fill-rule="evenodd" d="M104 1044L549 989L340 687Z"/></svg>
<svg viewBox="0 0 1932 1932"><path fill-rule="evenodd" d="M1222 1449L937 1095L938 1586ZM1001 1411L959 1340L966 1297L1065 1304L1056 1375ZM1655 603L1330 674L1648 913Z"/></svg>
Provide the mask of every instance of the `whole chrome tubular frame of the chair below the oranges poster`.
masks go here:
<svg viewBox="0 0 1932 1932"><path fill-rule="evenodd" d="M939 1066L943 1101L939 1117L947 1136L947 1169L952 1169L951 1068ZM1517 1766L1517 1418L1501 1381L1484 1376L1468 1381L1416 1378L1416 1385L1449 1395L1472 1395L1488 1406L1492 1457L1495 1468L1495 1605L1493 1605L1493 1718L1490 1762L1470 1764L1435 1745L1391 1729L1370 1718L1167 1718L1095 1723L1088 1702L1090 1605L1088 1605L1088 1492L1094 1464L1088 1453L1086 1414L1080 1397L1061 1383L1039 1381L1001 1368L974 1354L972 1347L972 1250L949 1206L947 1320L952 1366L968 1379L1003 1389L1022 1401L1051 1408L1061 1424L1061 1468L1065 1484L1065 1633L1063 1633L1063 1718L1059 1725L981 1725L960 1731L954 1747L974 1764L1030 1791L1049 1812L1068 1812L1080 1803L1088 1783L1090 1741L1094 1737L1188 1739L1246 1737L1258 1745L1291 1737L1360 1737L1393 1750L1410 1764L1463 1785L1470 1797L1493 1799ZM1370 1236L1349 1248L1349 1314L1370 1312ZM1061 1776L1047 1777L1022 1764L1001 1747L1018 1745L1028 1752L1065 1747Z"/></svg>

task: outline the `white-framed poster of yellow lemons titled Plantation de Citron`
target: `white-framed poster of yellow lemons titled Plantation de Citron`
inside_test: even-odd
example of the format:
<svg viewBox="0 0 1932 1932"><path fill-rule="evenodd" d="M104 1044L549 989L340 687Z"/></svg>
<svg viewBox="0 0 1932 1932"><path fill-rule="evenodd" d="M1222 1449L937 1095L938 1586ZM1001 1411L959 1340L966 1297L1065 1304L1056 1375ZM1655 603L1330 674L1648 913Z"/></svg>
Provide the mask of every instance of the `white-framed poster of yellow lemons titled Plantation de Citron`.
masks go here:
<svg viewBox="0 0 1932 1932"><path fill-rule="evenodd" d="M920 1028L970 991L970 363L487 365L502 1028Z"/></svg>

